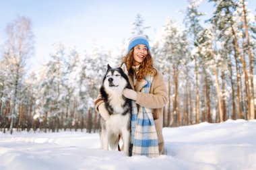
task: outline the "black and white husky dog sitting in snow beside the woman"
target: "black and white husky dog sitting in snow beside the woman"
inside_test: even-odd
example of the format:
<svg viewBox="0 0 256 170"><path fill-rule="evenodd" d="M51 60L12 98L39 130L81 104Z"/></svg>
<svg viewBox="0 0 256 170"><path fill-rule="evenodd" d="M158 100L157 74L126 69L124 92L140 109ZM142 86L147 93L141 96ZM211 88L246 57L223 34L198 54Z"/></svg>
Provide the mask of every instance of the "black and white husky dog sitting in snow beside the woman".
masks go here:
<svg viewBox="0 0 256 170"><path fill-rule="evenodd" d="M117 150L119 134L121 134L124 152L129 155L131 101L122 94L123 89L131 89L127 75L125 63L119 68L111 68L108 65L100 94L110 118L108 120L101 118L100 139L104 150L108 150L108 144L112 150Z"/></svg>

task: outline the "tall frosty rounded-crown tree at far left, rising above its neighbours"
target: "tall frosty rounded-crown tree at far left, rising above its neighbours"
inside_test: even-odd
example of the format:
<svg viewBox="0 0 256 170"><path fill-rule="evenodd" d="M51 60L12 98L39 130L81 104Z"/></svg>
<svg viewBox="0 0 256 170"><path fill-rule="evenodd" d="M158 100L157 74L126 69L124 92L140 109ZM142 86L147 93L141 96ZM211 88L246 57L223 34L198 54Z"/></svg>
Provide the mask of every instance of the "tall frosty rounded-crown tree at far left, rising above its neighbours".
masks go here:
<svg viewBox="0 0 256 170"><path fill-rule="evenodd" d="M22 86L26 74L26 61L33 54L34 38L30 19L18 17L6 28L7 40L4 44L4 60L6 65L6 87L9 88L11 101L10 132L18 116L18 106L22 97Z"/></svg>

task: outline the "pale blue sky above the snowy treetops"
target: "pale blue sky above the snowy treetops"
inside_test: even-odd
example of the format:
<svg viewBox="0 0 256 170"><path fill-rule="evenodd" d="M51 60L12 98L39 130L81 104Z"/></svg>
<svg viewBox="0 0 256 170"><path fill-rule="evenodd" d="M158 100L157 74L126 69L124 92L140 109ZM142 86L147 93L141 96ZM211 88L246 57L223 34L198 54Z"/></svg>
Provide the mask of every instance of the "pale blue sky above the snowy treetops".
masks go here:
<svg viewBox="0 0 256 170"><path fill-rule="evenodd" d="M62 42L66 48L74 46L80 54L96 45L104 51L119 50L131 36L137 13L150 26L146 32L150 40L160 32L168 18L183 28L187 0L0 0L0 44L5 41L5 28L17 16L28 17L34 33L34 56L30 63L40 65L54 52L53 44ZM249 7L256 2L249 0ZM209 19L213 4L203 0L200 10ZM251 9L255 11L255 9Z"/></svg>

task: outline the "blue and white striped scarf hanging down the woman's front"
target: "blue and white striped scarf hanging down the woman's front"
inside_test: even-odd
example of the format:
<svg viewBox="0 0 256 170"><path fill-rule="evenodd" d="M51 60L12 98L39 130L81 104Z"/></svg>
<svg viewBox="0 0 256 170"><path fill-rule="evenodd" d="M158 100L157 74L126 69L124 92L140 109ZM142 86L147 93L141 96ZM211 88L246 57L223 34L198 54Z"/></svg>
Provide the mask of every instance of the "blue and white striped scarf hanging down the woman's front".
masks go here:
<svg viewBox="0 0 256 170"><path fill-rule="evenodd" d="M141 92L150 93L152 76L145 77L148 82ZM131 137L133 150L132 155L145 155L147 157L158 157L158 136L152 115L152 109L139 106L139 112L135 101L131 102Z"/></svg>

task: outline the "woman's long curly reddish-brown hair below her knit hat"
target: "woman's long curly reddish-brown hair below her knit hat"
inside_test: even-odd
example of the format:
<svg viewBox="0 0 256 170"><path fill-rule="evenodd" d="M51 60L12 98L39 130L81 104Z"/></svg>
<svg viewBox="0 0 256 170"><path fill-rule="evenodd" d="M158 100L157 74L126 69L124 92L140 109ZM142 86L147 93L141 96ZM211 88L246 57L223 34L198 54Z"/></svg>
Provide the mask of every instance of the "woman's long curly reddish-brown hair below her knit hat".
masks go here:
<svg viewBox="0 0 256 170"><path fill-rule="evenodd" d="M127 71L129 75L134 75L132 66L133 66L133 51L134 48L130 50L130 52L127 54L127 56L124 56L122 61L125 62ZM148 54L146 58L141 62L141 65L139 66L139 73L136 75L136 79L138 81L141 81L146 75L156 75L156 69L153 67L153 59L150 51L148 50Z"/></svg>

